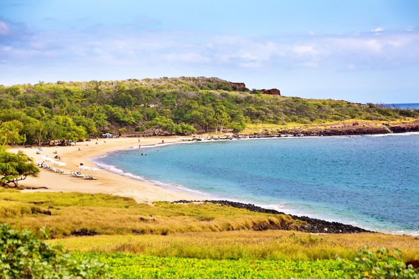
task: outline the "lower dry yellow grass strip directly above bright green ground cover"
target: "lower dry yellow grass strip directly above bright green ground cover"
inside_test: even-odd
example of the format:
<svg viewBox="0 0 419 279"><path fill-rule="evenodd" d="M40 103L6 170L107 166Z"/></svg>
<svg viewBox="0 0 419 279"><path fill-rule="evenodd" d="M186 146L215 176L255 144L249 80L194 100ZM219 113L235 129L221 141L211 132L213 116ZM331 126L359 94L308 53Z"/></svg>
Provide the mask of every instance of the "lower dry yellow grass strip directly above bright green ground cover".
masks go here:
<svg viewBox="0 0 419 279"><path fill-rule="evenodd" d="M406 260L419 258L419 238L385 234L310 235L292 231L231 231L170 236L95 236L51 240L71 252L123 252L210 259L352 259L362 245L399 248Z"/></svg>

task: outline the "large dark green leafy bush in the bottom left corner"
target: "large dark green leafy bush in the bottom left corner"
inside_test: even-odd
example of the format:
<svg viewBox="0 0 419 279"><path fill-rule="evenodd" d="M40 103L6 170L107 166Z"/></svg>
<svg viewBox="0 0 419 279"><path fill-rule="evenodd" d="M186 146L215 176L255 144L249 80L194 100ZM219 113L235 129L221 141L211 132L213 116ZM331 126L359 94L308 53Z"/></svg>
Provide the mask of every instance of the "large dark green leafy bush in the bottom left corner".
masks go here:
<svg viewBox="0 0 419 279"><path fill-rule="evenodd" d="M106 269L97 260L77 260L30 231L0 224L0 278L109 278Z"/></svg>

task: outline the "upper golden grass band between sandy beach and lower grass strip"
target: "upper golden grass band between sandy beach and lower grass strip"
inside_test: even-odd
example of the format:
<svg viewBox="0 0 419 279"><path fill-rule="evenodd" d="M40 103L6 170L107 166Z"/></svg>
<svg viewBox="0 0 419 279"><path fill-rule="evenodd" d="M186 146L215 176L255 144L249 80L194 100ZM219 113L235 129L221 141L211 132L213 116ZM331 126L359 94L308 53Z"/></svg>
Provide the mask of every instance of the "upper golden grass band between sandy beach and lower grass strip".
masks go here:
<svg viewBox="0 0 419 279"><path fill-rule="evenodd" d="M251 212L211 203L136 203L133 199L102 194L0 192L0 222L16 229L46 227L55 238L78 229L99 235L172 234L249 230L265 222L296 227L287 215Z"/></svg>

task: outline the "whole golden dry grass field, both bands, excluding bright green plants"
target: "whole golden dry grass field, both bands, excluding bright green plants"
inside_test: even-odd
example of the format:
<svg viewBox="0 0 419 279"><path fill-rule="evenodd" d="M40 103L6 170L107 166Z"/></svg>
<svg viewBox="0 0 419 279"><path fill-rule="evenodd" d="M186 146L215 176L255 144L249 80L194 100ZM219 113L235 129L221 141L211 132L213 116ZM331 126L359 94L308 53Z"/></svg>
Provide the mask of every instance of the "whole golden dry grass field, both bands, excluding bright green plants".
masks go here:
<svg viewBox="0 0 419 279"><path fill-rule="evenodd" d="M50 215L49 215L50 214ZM0 222L15 229L45 227L53 243L71 252L124 252L146 256L209 259L352 259L363 244L400 248L419 258L419 238L385 234L310 235L295 231L254 231L253 224L297 227L286 215L251 212L211 203L152 205L111 195L20 193L0 190ZM78 229L93 237L73 237Z"/></svg>

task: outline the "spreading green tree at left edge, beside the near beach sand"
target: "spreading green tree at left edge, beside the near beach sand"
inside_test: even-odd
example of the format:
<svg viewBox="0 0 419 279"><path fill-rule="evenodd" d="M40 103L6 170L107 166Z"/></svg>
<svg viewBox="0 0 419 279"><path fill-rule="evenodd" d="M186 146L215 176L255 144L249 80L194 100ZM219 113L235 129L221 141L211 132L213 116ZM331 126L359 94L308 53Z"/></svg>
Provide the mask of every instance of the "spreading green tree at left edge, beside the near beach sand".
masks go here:
<svg viewBox="0 0 419 279"><path fill-rule="evenodd" d="M18 181L28 176L37 177L39 172L33 159L23 151L19 150L17 154L14 154L0 147L0 183L2 186L13 183L17 187Z"/></svg>

